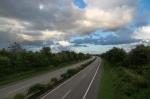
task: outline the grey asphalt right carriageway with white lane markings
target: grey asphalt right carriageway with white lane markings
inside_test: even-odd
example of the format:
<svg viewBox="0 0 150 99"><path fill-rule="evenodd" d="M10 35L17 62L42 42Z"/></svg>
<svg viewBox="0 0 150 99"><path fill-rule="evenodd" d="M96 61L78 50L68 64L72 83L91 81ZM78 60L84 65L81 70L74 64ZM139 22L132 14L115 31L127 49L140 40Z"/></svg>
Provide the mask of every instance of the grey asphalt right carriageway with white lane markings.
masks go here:
<svg viewBox="0 0 150 99"><path fill-rule="evenodd" d="M97 99L100 83L100 58L69 80L45 93L40 99Z"/></svg>

